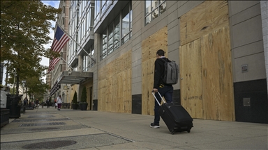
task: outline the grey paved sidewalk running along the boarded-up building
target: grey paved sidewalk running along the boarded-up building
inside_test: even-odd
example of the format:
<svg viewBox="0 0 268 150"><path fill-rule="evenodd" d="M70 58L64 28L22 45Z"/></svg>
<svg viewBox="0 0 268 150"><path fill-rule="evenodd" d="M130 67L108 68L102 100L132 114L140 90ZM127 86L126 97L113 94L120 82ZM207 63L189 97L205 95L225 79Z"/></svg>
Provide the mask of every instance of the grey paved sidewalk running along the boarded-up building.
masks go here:
<svg viewBox="0 0 268 150"><path fill-rule="evenodd" d="M1 149L268 149L267 124L194 119L191 133L172 135L153 119L39 107L1 128Z"/></svg>

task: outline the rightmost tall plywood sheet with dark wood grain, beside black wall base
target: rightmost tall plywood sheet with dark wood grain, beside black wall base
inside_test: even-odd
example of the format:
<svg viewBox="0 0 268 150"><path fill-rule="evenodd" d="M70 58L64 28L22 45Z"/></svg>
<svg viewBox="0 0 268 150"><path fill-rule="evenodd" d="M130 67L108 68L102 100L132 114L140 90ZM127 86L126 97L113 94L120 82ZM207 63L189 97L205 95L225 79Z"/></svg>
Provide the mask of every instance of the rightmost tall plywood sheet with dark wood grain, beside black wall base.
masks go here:
<svg viewBox="0 0 268 150"><path fill-rule="evenodd" d="M204 119L234 121L229 26L204 35L201 49Z"/></svg>

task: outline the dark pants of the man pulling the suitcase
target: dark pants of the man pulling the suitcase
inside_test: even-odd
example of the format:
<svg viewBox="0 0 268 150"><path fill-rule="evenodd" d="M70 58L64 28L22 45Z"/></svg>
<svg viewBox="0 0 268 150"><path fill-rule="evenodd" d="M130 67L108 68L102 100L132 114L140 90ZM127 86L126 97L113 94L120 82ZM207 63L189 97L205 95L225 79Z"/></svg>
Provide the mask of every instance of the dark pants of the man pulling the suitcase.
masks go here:
<svg viewBox="0 0 268 150"><path fill-rule="evenodd" d="M165 85L163 88L158 88L158 92L161 94L162 97L165 97L165 101L167 103L172 102L172 94L173 94L173 86L172 85ZM159 103L161 103L162 99L158 93L156 94L156 98L158 99ZM154 101L154 124L158 125L160 121L160 115L158 113L159 105L157 101Z"/></svg>

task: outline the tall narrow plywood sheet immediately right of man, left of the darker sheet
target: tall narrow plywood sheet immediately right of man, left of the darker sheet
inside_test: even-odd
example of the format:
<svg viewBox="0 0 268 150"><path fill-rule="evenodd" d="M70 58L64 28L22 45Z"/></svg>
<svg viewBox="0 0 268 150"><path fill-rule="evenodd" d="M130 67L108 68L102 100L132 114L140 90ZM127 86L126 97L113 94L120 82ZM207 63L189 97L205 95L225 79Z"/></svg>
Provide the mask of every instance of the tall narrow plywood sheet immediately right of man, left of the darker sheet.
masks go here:
<svg viewBox="0 0 268 150"><path fill-rule="evenodd" d="M200 39L180 47L181 105L193 118L202 119L202 61Z"/></svg>

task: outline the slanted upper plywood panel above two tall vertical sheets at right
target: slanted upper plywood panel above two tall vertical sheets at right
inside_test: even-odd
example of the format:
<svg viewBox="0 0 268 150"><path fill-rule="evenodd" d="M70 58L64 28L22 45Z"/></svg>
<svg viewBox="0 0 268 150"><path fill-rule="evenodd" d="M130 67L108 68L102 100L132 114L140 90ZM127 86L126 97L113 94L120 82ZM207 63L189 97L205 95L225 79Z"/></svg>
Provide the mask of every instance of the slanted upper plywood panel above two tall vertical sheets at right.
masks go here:
<svg viewBox="0 0 268 150"><path fill-rule="evenodd" d="M181 45L229 24L228 1L204 1L181 16Z"/></svg>

